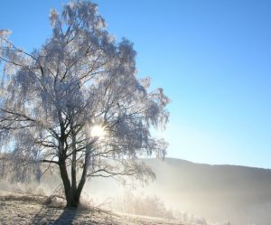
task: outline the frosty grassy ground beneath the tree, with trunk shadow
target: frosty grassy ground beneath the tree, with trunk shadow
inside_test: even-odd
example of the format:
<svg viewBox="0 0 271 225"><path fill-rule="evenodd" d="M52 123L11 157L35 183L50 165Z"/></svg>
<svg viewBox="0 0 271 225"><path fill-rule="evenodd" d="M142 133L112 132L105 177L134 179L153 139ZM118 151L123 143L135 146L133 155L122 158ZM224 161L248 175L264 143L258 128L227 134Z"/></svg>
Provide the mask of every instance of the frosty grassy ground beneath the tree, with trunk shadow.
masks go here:
<svg viewBox="0 0 271 225"><path fill-rule="evenodd" d="M0 192L0 225L95 224L95 225L188 225L177 220L117 214L97 208L65 209L47 197Z"/></svg>

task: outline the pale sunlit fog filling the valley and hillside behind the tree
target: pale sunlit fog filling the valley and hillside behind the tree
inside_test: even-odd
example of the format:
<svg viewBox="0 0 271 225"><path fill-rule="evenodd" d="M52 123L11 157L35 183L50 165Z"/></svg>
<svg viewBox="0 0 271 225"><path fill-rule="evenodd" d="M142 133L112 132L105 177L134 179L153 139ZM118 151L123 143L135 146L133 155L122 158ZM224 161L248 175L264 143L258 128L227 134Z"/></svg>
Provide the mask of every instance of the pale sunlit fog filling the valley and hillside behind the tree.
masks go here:
<svg viewBox="0 0 271 225"><path fill-rule="evenodd" d="M271 170L233 165L192 164L178 159L147 159L156 180L148 184L114 179L90 180L82 201L147 216L175 218L202 225L270 225ZM47 174L42 183L13 189L51 194L61 180ZM1 184L2 189L10 189ZM230 223L228 223L230 222Z"/></svg>

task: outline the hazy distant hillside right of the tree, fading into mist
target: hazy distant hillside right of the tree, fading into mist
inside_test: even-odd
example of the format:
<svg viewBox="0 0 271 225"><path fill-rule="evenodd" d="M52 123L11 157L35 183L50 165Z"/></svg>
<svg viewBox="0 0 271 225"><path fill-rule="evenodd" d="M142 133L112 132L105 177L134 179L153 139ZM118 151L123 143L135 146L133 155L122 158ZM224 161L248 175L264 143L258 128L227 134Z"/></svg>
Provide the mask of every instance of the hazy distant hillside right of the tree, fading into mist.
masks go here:
<svg viewBox="0 0 271 225"><path fill-rule="evenodd" d="M157 180L147 189L165 202L234 225L271 224L271 170L236 165L193 164L181 159L146 159Z"/></svg>

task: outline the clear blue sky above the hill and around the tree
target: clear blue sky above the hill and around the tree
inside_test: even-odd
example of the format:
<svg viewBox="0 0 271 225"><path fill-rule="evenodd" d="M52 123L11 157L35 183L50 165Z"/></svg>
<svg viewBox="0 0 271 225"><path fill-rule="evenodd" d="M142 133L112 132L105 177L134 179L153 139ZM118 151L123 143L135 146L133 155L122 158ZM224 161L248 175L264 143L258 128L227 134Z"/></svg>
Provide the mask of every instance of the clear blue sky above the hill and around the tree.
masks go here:
<svg viewBox="0 0 271 225"><path fill-rule="evenodd" d="M1 0L0 29L31 51L67 0ZM271 1L96 0L135 43L139 76L172 99L168 156L271 168Z"/></svg>

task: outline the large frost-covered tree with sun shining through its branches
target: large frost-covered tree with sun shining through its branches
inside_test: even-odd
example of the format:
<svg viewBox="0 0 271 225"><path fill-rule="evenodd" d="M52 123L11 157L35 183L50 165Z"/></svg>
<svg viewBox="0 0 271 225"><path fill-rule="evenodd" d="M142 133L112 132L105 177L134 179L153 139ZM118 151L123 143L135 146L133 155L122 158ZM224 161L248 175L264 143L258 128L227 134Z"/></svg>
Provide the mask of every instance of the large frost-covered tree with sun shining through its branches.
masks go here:
<svg viewBox="0 0 271 225"><path fill-rule="evenodd" d="M107 33L97 5L70 1L50 22L51 37L33 52L0 32L0 143L18 179L33 168L40 177L40 163L57 167L76 207L88 178L154 177L140 156L164 156L150 129L166 124L169 99L136 79L133 44Z"/></svg>

